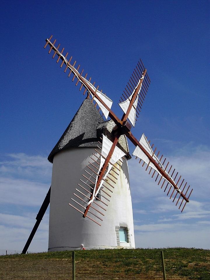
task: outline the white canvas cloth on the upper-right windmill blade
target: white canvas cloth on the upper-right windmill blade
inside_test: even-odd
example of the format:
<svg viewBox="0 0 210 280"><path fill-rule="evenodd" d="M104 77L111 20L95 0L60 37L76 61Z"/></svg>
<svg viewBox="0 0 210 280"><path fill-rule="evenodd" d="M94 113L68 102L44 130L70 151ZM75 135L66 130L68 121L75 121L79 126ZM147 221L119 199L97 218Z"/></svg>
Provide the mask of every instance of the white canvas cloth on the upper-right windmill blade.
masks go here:
<svg viewBox="0 0 210 280"><path fill-rule="evenodd" d="M120 108L122 109L122 111L126 114L127 112L127 109L128 109L128 106L130 105L130 101L131 101L131 98L132 96L134 95L134 92L136 91L139 83L141 82L141 80L143 80L144 76L141 77L141 79L139 80L137 86L135 87L134 91L132 92L132 95L126 99L125 101L121 102L121 103L118 103L120 105ZM142 83L141 83L141 86L142 86ZM138 99L139 99L139 92L141 91L141 86L139 88L139 91L137 93L137 96L136 96L136 99L134 101L134 104L130 110L130 113L128 115L128 119L129 121L131 122L132 126L134 127L135 126L135 121L136 121L136 106L137 106L137 103L138 103Z"/></svg>

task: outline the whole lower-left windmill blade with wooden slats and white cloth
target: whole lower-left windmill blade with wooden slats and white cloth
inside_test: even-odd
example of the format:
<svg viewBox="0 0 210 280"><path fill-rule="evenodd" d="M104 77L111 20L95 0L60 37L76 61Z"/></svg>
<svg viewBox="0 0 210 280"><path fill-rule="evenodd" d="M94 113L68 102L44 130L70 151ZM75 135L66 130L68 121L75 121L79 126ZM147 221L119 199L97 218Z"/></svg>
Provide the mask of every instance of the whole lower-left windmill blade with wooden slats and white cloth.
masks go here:
<svg viewBox="0 0 210 280"><path fill-rule="evenodd" d="M69 203L70 206L83 215L88 207L88 215L86 214L85 216L98 225L101 225L100 221L103 220L104 211L106 211L107 203L110 201L114 185L119 176L122 165L121 158L125 155L122 150L115 146L111 159L108 161L103 176L99 181L99 174L108 157L111 146L112 142L103 135L102 147L98 147L95 149L95 153L92 153L91 161L88 162L85 174L82 175L78 183L79 188L76 188L76 193L74 193L76 199L71 198L74 204Z"/></svg>

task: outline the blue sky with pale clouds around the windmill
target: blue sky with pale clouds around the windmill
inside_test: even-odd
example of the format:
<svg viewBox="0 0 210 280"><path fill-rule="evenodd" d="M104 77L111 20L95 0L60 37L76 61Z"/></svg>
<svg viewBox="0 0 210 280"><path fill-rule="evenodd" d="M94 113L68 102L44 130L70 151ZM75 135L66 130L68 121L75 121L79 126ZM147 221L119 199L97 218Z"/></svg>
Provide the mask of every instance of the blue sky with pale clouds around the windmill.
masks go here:
<svg viewBox="0 0 210 280"><path fill-rule="evenodd" d="M3 0L0 253L22 251L50 186L47 157L84 99L43 48L51 35L113 100L118 117L117 103L142 59L151 84L132 133L144 133L194 190L181 214L130 160L136 247L210 249L209 6ZM29 251L47 251L48 216Z"/></svg>

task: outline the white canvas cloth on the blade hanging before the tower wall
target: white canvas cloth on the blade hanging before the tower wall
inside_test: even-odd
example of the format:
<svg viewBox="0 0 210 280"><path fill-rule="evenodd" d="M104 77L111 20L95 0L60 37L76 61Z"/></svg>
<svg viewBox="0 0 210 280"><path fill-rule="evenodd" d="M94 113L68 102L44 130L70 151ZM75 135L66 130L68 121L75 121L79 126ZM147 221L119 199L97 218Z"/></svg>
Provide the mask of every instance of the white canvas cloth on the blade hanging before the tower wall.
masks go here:
<svg viewBox="0 0 210 280"><path fill-rule="evenodd" d="M110 141L104 134L103 134L103 139L102 139L102 149L101 149L101 161L100 161L100 165L99 165L99 171L98 171L98 174L101 170L101 168L103 167L104 165L104 162L106 160L106 157L108 156L108 153L111 149L111 146L112 146L112 141ZM93 202L93 200L95 199L95 196L99 193L99 190L100 188L102 187L102 184L104 183L104 180L105 178L107 177L109 171L111 170L112 168L112 164L115 164L121 157L123 157L125 155L125 153L120 150L120 148L118 148L117 146L115 146L114 148L114 151L113 151L113 154L111 156L111 159L109 162L111 163L108 163L108 170L106 171L106 173L104 174L102 180L101 180L101 183L96 191L96 184L97 184L97 181L98 181L98 175L96 176L96 181L95 181L95 186L94 186L94 189L93 189L93 198L87 203L87 206L89 204L91 204Z"/></svg>

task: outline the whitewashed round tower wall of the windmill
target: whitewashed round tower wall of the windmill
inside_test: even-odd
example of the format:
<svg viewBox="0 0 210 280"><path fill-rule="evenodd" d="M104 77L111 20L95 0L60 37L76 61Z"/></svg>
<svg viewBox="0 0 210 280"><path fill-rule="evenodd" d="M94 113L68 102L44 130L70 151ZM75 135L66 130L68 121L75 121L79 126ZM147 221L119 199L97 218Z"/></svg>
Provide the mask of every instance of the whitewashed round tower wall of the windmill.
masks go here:
<svg viewBox="0 0 210 280"><path fill-rule="evenodd" d="M50 196L48 251L102 248L135 248L133 213L127 160L113 190L107 211L97 225L69 206L93 148L63 150L54 156ZM117 244L115 227L127 227L130 242Z"/></svg>

